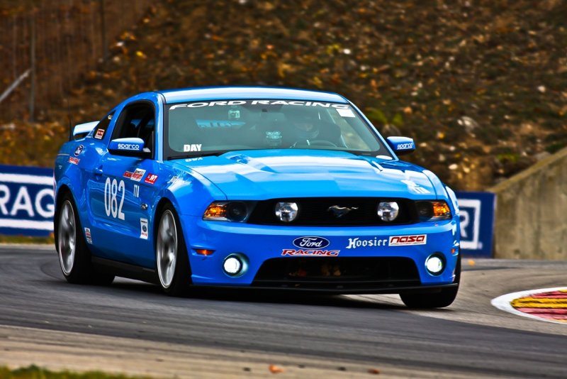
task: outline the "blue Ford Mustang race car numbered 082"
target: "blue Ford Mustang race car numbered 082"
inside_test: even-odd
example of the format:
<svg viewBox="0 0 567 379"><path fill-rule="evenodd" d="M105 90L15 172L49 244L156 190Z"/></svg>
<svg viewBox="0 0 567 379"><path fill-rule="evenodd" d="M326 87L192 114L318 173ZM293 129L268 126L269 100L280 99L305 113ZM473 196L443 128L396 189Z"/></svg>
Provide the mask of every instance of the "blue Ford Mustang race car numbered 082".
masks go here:
<svg viewBox="0 0 567 379"><path fill-rule="evenodd" d="M210 87L138 94L72 131L55 160L64 277L191 287L399 293L459 290L459 209L328 92Z"/></svg>

